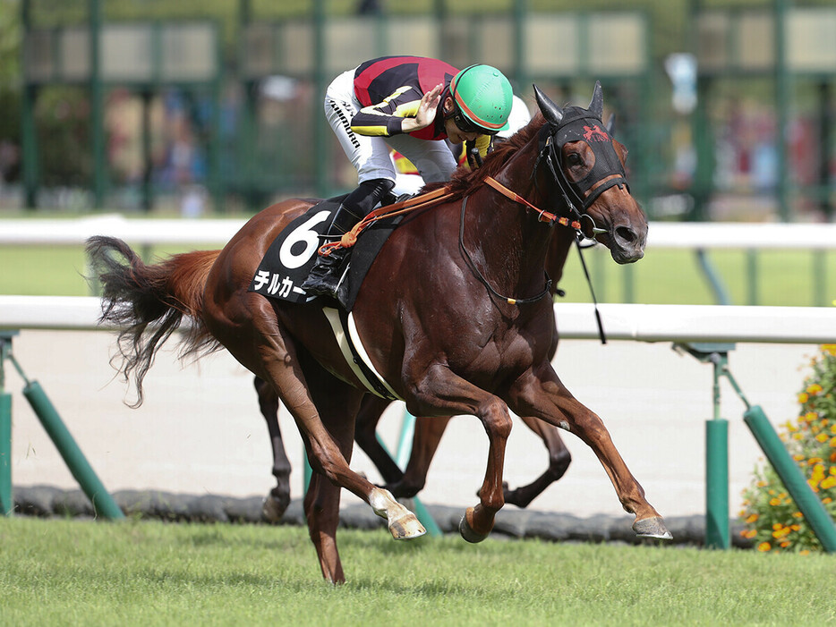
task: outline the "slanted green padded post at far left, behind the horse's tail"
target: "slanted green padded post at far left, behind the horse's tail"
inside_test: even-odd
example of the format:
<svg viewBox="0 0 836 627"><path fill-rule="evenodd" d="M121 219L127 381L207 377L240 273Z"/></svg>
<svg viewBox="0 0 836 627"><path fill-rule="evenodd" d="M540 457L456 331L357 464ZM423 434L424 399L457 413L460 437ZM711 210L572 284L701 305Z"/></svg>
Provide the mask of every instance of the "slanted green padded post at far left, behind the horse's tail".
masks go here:
<svg viewBox="0 0 836 627"><path fill-rule="evenodd" d="M93 511L97 515L111 520L124 518L124 513L107 492L102 482L98 479L96 472L90 467L90 463L81 453L79 445L76 444L70 431L64 425L64 421L55 411L55 407L44 389L37 381L31 381L23 388L23 395L32 406L32 410L38 416L41 424L47 430L47 434L55 443L58 453L64 458L67 468L73 473L73 477L79 482L84 494L90 498L93 504Z"/></svg>

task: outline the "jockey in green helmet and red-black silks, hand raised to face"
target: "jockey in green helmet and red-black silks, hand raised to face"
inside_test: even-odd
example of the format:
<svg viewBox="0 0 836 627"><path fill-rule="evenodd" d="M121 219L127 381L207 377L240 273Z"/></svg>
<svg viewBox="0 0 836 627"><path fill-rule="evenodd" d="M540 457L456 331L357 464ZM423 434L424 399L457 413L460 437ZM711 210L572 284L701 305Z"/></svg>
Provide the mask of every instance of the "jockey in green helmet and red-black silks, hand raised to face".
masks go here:
<svg viewBox="0 0 836 627"><path fill-rule="evenodd" d="M337 208L327 236L350 231L393 188L390 148L408 158L424 182L448 181L457 164L444 140L475 142L484 155L491 136L508 128L511 103L508 79L490 65L458 71L437 59L384 56L337 76L326 91L325 116L360 184ZM336 248L320 255L303 290L334 296L336 269L347 253Z"/></svg>

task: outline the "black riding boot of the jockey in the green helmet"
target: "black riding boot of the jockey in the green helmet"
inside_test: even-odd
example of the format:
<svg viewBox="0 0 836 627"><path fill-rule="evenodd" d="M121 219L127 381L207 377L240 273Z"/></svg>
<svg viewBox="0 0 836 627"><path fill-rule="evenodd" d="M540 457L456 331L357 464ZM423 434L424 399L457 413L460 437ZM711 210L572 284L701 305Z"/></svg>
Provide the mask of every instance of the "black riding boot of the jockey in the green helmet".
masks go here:
<svg viewBox="0 0 836 627"><path fill-rule="evenodd" d="M351 231L354 225L371 213L374 206L394 185L394 182L387 179L373 179L360 183L357 189L348 194L337 208L326 237L337 239L337 237L342 237L343 233ZM337 288L342 279L340 270L343 261L348 257L349 250L337 247L331 249L328 255L320 255L316 265L311 268L311 274L302 284L302 289L311 295L328 295L337 298Z"/></svg>

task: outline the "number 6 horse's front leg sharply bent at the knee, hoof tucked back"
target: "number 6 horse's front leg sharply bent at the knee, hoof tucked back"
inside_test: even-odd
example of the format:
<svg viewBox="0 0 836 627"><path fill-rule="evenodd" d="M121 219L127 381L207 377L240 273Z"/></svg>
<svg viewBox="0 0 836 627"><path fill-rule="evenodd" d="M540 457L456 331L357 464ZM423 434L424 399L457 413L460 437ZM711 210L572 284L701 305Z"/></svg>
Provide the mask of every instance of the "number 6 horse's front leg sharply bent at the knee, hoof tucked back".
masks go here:
<svg viewBox="0 0 836 627"><path fill-rule="evenodd" d="M505 504L502 472L505 446L511 433L508 405L439 364L428 369L410 390L406 408L416 416L443 411L452 415L471 414L482 421L489 440L485 479L479 490L479 504L469 507L459 523L462 538L481 542L491 533L494 517Z"/></svg>

